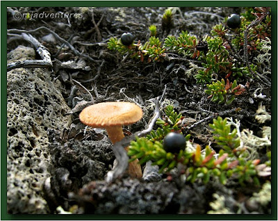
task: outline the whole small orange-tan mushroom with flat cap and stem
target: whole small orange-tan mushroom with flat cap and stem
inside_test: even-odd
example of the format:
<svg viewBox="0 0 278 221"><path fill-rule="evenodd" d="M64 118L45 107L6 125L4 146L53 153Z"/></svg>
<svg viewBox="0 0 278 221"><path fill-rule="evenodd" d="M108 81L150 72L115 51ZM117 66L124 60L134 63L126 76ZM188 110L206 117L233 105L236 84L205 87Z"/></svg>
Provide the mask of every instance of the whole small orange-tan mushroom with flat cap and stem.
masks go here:
<svg viewBox="0 0 278 221"><path fill-rule="evenodd" d="M104 102L88 106L81 111L79 119L83 124L94 128L106 129L113 144L124 138L122 125L138 122L142 118L142 109L129 102ZM127 151L126 147L126 151ZM142 177L138 159L129 163L128 173L131 177Z"/></svg>

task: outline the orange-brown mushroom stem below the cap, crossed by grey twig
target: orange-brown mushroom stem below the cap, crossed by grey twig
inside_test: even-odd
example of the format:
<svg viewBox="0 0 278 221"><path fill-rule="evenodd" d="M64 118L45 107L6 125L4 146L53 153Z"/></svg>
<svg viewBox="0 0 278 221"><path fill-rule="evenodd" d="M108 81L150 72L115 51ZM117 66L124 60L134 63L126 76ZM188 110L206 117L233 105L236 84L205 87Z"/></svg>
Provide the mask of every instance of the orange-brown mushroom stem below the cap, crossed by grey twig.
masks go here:
<svg viewBox="0 0 278 221"><path fill-rule="evenodd" d="M124 133L122 132L122 126L109 126L106 127L106 132L113 144L115 142L119 142L124 138ZM126 152L128 151L129 147L125 147ZM141 178L142 177L142 169L141 165L138 163L138 159L129 163L128 173L131 177Z"/></svg>

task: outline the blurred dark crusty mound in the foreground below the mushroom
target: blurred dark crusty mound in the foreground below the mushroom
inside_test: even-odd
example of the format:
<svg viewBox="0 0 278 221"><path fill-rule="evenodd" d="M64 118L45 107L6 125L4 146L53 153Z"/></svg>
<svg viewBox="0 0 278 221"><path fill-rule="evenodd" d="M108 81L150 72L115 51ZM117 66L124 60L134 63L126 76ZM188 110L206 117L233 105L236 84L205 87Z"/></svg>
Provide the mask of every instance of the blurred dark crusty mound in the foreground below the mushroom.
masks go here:
<svg viewBox="0 0 278 221"><path fill-rule="evenodd" d="M76 200L77 213L204 214L208 202L203 196L211 199L211 193L217 188L222 190L222 186L213 181L206 186L202 183L191 185L181 182L180 177L152 182L126 177L109 184L91 181L70 197Z"/></svg>

